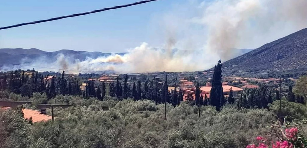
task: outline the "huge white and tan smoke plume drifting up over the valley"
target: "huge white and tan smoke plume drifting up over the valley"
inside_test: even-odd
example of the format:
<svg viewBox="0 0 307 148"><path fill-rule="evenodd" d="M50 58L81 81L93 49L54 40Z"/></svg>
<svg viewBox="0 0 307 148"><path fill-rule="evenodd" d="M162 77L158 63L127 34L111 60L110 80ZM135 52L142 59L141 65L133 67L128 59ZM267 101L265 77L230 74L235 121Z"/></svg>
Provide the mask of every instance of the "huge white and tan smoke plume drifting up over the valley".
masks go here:
<svg viewBox="0 0 307 148"><path fill-rule="evenodd" d="M188 1L151 22L160 48L142 43L129 53L97 59L74 60L58 55L31 64L71 69L70 72L115 70L130 72L182 72L211 68L221 58L238 55L234 48L257 48L307 26L306 0ZM155 27L158 26L158 27ZM161 41L165 43L161 45ZM172 49L177 48L177 51Z"/></svg>

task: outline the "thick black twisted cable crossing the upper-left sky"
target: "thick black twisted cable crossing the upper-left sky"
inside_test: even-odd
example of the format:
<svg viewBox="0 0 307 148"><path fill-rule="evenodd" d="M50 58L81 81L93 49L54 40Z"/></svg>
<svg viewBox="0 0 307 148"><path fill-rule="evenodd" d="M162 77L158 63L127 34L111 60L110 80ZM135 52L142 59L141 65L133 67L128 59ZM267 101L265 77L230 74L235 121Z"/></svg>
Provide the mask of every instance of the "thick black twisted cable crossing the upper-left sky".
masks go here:
<svg viewBox="0 0 307 148"><path fill-rule="evenodd" d="M139 5L139 4L143 4L143 3L147 3L147 2L153 2L153 1L158 1L158 0L145 0L145 1L135 2L135 3L126 4L126 5L120 5L120 6L114 6L114 7L109 7L109 8L103 8L103 9L99 9L99 10L93 10L93 11L89 11L89 12L83 12L83 13L79 13L79 14L72 14L72 15L66 15L66 16L61 16L61 17L56 17L56 18L50 18L50 19L47 19L47 20L32 21L32 22L27 22L27 23L22 23L22 24L16 24L16 25L11 25L11 26L1 27L0 30L24 26L24 25L30 25L30 24L37 24L37 23L42 23L42 22L47 22L47 21L55 21L55 20L59 20L59 19L63 19L63 18L72 18L72 17L81 16L81 15L87 15L87 14L92 14L92 13L97 13L97 12L102 12L102 11L107 11L107 10L112 10L112 9L119 9L119 8Z"/></svg>

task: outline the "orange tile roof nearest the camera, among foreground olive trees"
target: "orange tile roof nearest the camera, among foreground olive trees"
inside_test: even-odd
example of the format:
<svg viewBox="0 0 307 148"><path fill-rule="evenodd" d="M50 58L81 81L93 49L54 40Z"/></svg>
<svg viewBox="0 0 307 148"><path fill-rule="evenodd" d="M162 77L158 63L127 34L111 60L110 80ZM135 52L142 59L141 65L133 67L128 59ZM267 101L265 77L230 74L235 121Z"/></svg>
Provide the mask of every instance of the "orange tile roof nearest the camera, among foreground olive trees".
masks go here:
<svg viewBox="0 0 307 148"><path fill-rule="evenodd" d="M7 110L11 107L0 107L1 110ZM30 119L32 117L32 122L42 122L42 121L48 121L52 119L52 116L41 114L40 111L32 110L28 108L22 109L22 112L24 114L25 119Z"/></svg>

